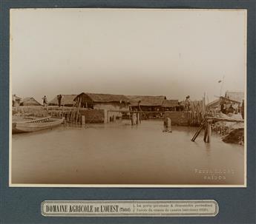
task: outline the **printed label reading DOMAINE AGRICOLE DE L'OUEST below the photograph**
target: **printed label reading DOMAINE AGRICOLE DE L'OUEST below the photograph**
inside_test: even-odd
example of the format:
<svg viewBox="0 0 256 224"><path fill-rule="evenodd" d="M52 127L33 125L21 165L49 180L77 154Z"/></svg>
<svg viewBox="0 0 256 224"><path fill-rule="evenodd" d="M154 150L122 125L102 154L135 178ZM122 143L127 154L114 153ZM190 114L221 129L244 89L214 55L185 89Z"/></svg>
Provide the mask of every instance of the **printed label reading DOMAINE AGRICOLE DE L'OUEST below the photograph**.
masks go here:
<svg viewBox="0 0 256 224"><path fill-rule="evenodd" d="M45 200L47 217L214 217L215 200Z"/></svg>

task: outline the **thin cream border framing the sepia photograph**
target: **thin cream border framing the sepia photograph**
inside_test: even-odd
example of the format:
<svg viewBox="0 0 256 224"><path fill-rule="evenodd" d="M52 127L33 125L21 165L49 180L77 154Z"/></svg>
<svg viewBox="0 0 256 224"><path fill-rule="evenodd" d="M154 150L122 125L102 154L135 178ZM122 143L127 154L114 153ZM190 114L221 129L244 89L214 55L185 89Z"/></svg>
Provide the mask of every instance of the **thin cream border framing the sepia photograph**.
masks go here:
<svg viewBox="0 0 256 224"><path fill-rule="evenodd" d="M83 9L77 9L77 8L35 8L35 10L69 10L69 11L76 11L76 12L79 12L79 10L157 10L157 11L160 11L160 10L165 10L165 11L174 11L174 12L177 12L177 11L181 11L181 12L190 12L190 11L194 11L194 12L197 12L197 11L203 11L203 12L206 12L206 11L222 11L222 12L225 12L225 11L243 11L245 12L244 16L244 21L245 21L245 24L244 24L244 29L247 30L247 10L244 10L244 9L156 9L156 8L153 8L153 9L137 9L137 8L83 8ZM30 10L30 8L27 8L27 9L10 9L10 27L12 27L12 21L11 21L11 13L16 10ZM11 31L11 29L10 29ZM247 175L246 175L246 157L247 157L247 147L246 147L246 106L247 106L247 101L246 101L246 96L247 96L247 84L246 84L246 81L247 81L247 74L246 74L246 53L247 53L247 32L245 31L245 36L244 36L244 41L245 41L245 55L244 55L244 58L245 58L245 61L244 61L244 65L245 65L245 71L244 71L244 81L245 81L245 86L244 86L244 99L245 99L245 118L244 118L244 146L243 146L243 150L244 150L244 153L243 153L243 157L244 157L244 160L243 160L243 169L244 169L244 174L243 174L243 184L65 184L65 183L62 183L62 184L54 184L54 183L47 183L47 184L44 184L44 183L12 183L11 180L12 180L12 98L9 98L9 107L10 107L10 115L9 115L9 135L10 135L10 138L9 138L9 186L10 187L75 187L75 188L91 188L91 187L95 187L95 188L108 188L108 187L118 187L118 188L177 188L177 187L182 187L182 188L209 188L209 187L212 187L212 188L234 188L234 187L238 187L238 188L245 188L246 187L246 182L247 182ZM12 38L13 35L12 33L10 33L10 36ZM10 52L12 50L12 44L10 43ZM12 72L11 72L11 55L10 55L10 93L9 95L11 96L12 95Z"/></svg>

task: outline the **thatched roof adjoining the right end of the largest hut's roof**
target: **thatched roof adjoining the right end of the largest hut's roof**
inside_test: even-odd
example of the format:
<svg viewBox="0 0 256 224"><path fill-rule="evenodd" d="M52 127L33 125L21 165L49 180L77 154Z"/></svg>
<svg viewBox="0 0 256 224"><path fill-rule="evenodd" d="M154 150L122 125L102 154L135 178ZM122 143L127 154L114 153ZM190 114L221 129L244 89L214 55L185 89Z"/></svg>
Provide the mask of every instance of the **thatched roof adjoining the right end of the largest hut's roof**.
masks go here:
<svg viewBox="0 0 256 224"><path fill-rule="evenodd" d="M152 95L126 95L130 100L131 106L162 106L163 101L166 100L164 95L152 96Z"/></svg>

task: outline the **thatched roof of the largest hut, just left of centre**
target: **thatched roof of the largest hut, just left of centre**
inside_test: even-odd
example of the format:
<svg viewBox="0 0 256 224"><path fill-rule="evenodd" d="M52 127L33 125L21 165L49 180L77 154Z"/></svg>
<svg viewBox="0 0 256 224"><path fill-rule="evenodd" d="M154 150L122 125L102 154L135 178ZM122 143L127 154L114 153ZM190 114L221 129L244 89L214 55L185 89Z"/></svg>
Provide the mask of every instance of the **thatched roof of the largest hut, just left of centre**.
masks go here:
<svg viewBox="0 0 256 224"><path fill-rule="evenodd" d="M110 103L110 102L129 102L129 99L125 95L114 95L114 94L102 94L102 93L85 93L82 92L76 97L81 95L87 95L91 98L91 101L95 103ZM76 98L75 98L76 99ZM75 101L74 99L74 101Z"/></svg>

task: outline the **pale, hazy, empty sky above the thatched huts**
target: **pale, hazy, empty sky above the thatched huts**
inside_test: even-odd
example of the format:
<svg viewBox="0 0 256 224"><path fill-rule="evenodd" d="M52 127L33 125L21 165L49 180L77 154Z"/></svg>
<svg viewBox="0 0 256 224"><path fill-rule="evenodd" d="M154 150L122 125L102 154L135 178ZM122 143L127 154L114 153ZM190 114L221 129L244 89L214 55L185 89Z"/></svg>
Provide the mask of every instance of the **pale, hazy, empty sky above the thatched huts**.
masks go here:
<svg viewBox="0 0 256 224"><path fill-rule="evenodd" d="M186 95L244 91L245 10L11 10L12 92Z"/></svg>

